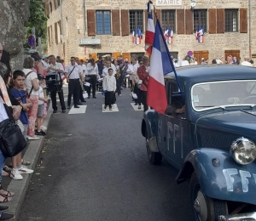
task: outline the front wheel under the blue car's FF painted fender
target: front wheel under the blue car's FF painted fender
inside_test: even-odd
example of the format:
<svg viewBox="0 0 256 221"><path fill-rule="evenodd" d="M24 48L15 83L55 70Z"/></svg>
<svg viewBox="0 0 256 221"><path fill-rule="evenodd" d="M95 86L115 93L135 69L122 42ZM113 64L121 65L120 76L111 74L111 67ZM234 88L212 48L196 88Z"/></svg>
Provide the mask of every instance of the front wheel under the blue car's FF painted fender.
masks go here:
<svg viewBox="0 0 256 221"><path fill-rule="evenodd" d="M227 202L205 195L195 172L190 178L189 191L196 221L215 221L218 220L218 216L228 214Z"/></svg>

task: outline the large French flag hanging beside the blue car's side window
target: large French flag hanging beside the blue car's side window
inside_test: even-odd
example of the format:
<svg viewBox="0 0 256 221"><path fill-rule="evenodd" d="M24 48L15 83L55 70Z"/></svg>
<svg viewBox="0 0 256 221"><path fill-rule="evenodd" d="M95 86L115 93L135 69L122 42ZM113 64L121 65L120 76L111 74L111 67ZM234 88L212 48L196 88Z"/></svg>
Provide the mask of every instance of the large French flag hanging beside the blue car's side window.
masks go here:
<svg viewBox="0 0 256 221"><path fill-rule="evenodd" d="M150 64L147 104L164 114L167 107L164 75L175 71L175 68L159 20L156 21Z"/></svg>

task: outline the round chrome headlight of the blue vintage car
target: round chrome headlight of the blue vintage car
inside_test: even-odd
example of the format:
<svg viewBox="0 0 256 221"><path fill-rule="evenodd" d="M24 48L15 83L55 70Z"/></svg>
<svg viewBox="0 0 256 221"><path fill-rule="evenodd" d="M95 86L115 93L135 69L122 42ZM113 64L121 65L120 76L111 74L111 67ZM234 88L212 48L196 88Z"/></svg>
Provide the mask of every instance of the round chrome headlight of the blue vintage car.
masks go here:
<svg viewBox="0 0 256 221"><path fill-rule="evenodd" d="M241 165L247 165L256 159L256 146L249 139L236 139L231 144L230 155Z"/></svg>

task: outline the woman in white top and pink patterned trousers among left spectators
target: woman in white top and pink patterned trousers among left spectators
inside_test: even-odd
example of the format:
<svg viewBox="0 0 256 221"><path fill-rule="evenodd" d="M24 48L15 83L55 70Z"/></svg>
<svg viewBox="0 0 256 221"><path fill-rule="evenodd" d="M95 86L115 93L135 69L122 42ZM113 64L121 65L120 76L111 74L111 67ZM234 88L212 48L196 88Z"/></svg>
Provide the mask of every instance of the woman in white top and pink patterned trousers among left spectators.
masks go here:
<svg viewBox="0 0 256 221"><path fill-rule="evenodd" d="M23 72L25 73L25 84L27 89L27 94L29 99L32 102L32 108L27 112L28 116L28 128L27 128L27 139L35 140L40 139L35 135L35 124L38 116L38 93L39 93L39 84L38 84L38 75L32 68L34 66L34 59L32 57L26 57L23 63Z"/></svg>

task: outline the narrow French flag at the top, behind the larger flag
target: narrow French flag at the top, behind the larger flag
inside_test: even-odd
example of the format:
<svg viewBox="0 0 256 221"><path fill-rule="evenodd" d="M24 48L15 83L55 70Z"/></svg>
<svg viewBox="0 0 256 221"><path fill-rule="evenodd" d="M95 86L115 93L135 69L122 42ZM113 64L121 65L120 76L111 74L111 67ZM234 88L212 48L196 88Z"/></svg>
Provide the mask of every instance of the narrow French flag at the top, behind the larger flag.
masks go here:
<svg viewBox="0 0 256 221"><path fill-rule="evenodd" d="M147 24L147 30L145 35L145 50L146 54L150 55L152 53L152 45L154 42L154 20L153 20L153 14L151 11L151 1L148 1L148 24Z"/></svg>

